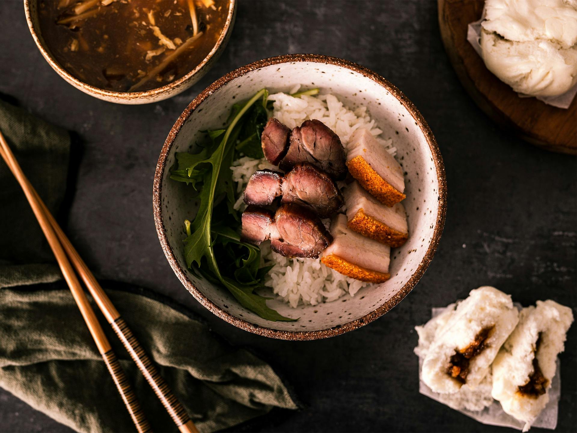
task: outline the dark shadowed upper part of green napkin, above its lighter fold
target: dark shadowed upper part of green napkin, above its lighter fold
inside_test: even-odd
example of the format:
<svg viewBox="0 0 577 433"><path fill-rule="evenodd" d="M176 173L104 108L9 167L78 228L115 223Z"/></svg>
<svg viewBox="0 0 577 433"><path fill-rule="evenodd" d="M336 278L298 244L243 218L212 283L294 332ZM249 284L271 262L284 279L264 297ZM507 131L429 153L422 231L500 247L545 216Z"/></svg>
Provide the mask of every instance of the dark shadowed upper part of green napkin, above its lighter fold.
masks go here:
<svg viewBox="0 0 577 433"><path fill-rule="evenodd" d="M0 130L24 173L56 215L66 190L70 136L0 99ZM0 288L61 278L18 182L0 158Z"/></svg>

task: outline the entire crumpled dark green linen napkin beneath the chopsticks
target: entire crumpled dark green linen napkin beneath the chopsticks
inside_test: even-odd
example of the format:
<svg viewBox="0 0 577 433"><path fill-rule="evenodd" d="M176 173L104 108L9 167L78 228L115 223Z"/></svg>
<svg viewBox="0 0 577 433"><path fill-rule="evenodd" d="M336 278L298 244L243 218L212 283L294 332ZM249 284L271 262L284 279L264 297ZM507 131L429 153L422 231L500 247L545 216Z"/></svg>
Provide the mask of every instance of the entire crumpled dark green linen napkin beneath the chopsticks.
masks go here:
<svg viewBox="0 0 577 433"><path fill-rule="evenodd" d="M1 101L0 129L55 212L66 185L68 134ZM0 237L0 387L77 431L136 431L68 288L47 283L60 278L58 268L11 176L0 161L7 235ZM273 408L297 409L270 365L233 348L190 312L142 289L103 286L201 432ZM103 328L153 429L177 431L110 327Z"/></svg>

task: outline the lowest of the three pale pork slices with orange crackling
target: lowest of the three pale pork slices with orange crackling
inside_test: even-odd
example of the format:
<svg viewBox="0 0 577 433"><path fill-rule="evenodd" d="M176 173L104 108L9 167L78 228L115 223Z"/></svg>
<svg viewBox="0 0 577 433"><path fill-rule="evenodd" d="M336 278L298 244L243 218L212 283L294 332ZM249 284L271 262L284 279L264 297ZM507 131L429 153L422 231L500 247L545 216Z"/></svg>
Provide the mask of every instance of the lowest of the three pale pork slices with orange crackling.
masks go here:
<svg viewBox="0 0 577 433"><path fill-rule="evenodd" d="M331 222L331 245L323 251L321 262L347 277L381 283L391 278L391 247L362 236L347 227L347 217L336 215Z"/></svg>

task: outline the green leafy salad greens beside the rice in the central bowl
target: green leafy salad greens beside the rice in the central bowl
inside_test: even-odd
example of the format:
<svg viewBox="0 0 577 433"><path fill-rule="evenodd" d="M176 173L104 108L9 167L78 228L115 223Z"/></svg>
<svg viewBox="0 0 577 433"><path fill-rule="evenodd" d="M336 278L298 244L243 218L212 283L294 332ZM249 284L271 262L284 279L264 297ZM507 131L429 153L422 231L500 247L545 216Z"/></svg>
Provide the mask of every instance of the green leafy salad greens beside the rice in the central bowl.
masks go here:
<svg viewBox="0 0 577 433"><path fill-rule="evenodd" d="M171 170L174 180L202 184L198 199L200 206L194 221L187 226L185 260L189 268L204 275L209 281L222 283L243 305L268 320L296 320L280 315L267 307L268 298L254 293L266 273L258 268L260 249L241 242L231 227L238 225L238 212L233 209L234 182L230 166L237 154L237 143L244 143L242 152L262 158L260 133L267 122L264 108L268 91L262 89L248 102L234 104L227 129L209 130L212 145L197 154L178 153L178 167ZM261 103L255 104L258 100ZM246 153L245 153L246 154ZM222 200L221 200L222 199ZM220 200L220 201L219 201ZM215 206L216 205L216 206ZM227 211L223 211L226 206ZM231 225L228 219L236 223ZM215 250L218 252L215 253ZM228 258L228 261L226 260ZM221 271L219 264L224 266Z"/></svg>

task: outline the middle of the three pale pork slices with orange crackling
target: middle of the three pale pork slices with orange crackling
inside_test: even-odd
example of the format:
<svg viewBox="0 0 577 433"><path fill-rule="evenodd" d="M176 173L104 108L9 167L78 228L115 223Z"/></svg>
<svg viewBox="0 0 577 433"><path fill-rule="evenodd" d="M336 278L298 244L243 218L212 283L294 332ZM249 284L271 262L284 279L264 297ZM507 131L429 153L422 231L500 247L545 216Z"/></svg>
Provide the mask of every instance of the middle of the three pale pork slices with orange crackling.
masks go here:
<svg viewBox="0 0 577 433"><path fill-rule="evenodd" d="M401 203L385 206L361 188L357 181L346 186L343 196L349 229L391 247L400 247L407 241L407 215Z"/></svg>

